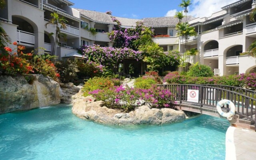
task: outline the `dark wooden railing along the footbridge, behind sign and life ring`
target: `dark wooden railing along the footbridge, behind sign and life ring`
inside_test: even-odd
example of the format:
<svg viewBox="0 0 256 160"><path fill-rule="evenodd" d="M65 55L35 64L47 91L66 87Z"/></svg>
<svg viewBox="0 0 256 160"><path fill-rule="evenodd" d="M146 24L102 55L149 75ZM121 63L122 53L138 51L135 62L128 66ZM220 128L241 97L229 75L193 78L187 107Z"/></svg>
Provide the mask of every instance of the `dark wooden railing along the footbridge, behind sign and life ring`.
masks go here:
<svg viewBox="0 0 256 160"><path fill-rule="evenodd" d="M228 99L236 106L236 114L240 115L240 118L247 118L255 125L255 105L256 105L256 92L245 88L212 85L212 84L159 84L161 88L170 90L175 100L182 102L188 102L188 90L198 90L199 98L198 102L189 102L191 104L199 104L200 110L202 107L216 107L217 103L222 99ZM226 105L226 111L230 110ZM256 128L255 128L256 129Z"/></svg>

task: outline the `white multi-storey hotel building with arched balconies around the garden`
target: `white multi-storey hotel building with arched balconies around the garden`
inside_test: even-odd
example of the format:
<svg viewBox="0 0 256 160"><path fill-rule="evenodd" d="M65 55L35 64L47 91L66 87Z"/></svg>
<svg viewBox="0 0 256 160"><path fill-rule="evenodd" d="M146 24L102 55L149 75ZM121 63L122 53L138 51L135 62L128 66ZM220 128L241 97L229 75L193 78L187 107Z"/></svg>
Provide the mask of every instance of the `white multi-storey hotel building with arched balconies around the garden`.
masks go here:
<svg viewBox="0 0 256 160"><path fill-rule="evenodd" d="M45 27L45 24L51 19L50 14L57 12L67 20L67 28L61 30L67 37L65 40L60 38L60 44L56 47L55 55L59 59L79 56L77 49L82 45L113 46L107 34L115 25L112 16L103 12L72 8L73 5L68 0L6 0L5 8L0 9L0 23L12 42L18 42L28 50L45 48L38 49L38 52L50 53L55 37L48 35L54 33L55 28ZM217 75L222 76L256 72L256 58L240 56L256 40L256 23L249 20L249 14L255 5L254 0L240 0L222 7L210 17L187 16L189 24L198 33L197 36L189 37L187 42L176 36L177 18L116 18L124 28L135 27L137 21L152 27L154 42L165 51L178 49L182 53L196 48L199 54L187 58L186 62L208 65ZM89 28L96 28L97 34L89 32Z"/></svg>

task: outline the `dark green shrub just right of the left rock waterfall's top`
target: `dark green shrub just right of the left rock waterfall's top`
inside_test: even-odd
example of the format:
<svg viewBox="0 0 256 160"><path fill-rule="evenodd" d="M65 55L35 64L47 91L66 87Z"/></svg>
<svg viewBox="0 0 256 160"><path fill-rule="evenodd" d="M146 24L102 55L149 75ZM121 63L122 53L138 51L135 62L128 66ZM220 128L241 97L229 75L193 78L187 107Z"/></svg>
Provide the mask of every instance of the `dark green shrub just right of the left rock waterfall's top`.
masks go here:
<svg viewBox="0 0 256 160"><path fill-rule="evenodd" d="M60 80L64 83L74 82L77 79L78 66L75 61L66 60L56 62L56 67L60 73Z"/></svg>

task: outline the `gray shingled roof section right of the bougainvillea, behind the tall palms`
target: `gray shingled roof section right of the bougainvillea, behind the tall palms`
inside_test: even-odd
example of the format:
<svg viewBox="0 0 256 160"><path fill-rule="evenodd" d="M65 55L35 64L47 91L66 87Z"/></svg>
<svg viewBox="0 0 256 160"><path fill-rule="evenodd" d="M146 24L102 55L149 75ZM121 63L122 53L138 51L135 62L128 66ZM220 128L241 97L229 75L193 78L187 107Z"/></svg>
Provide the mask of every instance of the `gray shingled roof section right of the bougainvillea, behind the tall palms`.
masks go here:
<svg viewBox="0 0 256 160"><path fill-rule="evenodd" d="M187 16L187 21L194 19L193 16ZM185 21L185 18L183 18ZM178 18L174 17L157 17L157 18L144 18L143 22L146 26L150 27L168 27L168 26L176 26L179 22Z"/></svg>

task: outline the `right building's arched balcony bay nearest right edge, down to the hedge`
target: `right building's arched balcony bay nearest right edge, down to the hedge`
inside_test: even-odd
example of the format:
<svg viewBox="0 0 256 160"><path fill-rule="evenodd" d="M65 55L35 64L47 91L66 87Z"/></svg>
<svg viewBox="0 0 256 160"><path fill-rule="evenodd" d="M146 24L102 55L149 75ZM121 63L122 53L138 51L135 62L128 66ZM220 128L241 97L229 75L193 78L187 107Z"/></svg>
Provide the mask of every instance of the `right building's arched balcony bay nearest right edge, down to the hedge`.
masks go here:
<svg viewBox="0 0 256 160"><path fill-rule="evenodd" d="M224 51L226 54L226 75L239 74L239 56L242 50L242 45L235 45Z"/></svg>

